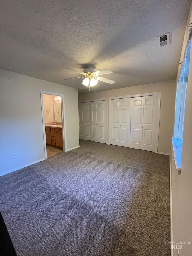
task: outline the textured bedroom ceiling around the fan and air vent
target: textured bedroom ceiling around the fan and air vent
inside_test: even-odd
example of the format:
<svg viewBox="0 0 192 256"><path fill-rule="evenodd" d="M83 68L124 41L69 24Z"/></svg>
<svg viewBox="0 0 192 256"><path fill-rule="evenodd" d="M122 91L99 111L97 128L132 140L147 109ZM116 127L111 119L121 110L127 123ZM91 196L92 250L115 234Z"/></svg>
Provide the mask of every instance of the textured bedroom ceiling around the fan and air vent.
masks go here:
<svg viewBox="0 0 192 256"><path fill-rule="evenodd" d="M82 79L62 81L93 64L109 68L91 92L176 78L190 0L1 0L0 68L89 90ZM160 47L158 35L170 33Z"/></svg>

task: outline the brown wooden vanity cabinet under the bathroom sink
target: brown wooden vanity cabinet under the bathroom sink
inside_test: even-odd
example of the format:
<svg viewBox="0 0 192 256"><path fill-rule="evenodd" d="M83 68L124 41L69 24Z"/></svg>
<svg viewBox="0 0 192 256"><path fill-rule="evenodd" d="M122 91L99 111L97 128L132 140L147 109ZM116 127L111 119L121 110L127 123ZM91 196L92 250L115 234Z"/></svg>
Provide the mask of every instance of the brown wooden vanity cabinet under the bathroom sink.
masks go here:
<svg viewBox="0 0 192 256"><path fill-rule="evenodd" d="M62 129L45 127L46 144L63 148Z"/></svg>

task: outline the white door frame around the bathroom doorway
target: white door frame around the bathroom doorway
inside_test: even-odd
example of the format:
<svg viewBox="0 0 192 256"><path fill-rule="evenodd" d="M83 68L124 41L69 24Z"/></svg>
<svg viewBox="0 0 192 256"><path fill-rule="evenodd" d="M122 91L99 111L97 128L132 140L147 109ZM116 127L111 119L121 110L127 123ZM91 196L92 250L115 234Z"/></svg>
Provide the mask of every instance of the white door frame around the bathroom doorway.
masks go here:
<svg viewBox="0 0 192 256"><path fill-rule="evenodd" d="M43 94L55 95L61 97L61 118L62 118L62 134L63 134L63 152L67 149L67 140L66 140L66 122L65 122L65 104L64 104L64 94L55 93L55 92L41 92L41 112L42 112L42 125L43 125L43 136L44 136L44 151L45 159L47 159L47 148L46 148L46 134L45 134L45 119L44 119L44 106L43 106Z"/></svg>

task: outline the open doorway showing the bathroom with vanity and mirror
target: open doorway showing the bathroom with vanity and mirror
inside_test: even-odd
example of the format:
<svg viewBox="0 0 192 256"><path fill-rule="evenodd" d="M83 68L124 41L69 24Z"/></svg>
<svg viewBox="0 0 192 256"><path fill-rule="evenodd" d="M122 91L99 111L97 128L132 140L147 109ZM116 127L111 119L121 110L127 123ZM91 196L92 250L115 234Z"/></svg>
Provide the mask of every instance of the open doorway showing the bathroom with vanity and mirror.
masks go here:
<svg viewBox="0 0 192 256"><path fill-rule="evenodd" d="M64 151L64 95L41 92L45 158Z"/></svg>

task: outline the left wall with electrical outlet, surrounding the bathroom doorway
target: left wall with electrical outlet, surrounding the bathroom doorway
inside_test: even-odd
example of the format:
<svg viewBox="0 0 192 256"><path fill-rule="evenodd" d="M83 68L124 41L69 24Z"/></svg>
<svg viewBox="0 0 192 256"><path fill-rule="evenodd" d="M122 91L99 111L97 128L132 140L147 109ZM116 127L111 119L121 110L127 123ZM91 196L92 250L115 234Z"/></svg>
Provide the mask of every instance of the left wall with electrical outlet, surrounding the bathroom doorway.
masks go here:
<svg viewBox="0 0 192 256"><path fill-rule="evenodd" d="M79 146L77 89L0 69L0 175L45 158L41 90L64 94L66 150Z"/></svg>

